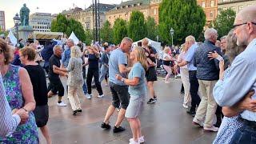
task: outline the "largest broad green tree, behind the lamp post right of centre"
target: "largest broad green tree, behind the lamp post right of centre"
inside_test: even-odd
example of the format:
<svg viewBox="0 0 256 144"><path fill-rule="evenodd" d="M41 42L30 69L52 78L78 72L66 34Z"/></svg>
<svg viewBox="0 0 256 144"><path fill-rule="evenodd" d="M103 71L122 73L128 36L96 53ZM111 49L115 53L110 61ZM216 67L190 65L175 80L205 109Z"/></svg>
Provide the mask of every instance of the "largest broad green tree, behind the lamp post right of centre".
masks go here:
<svg viewBox="0 0 256 144"><path fill-rule="evenodd" d="M198 38L205 24L206 14L196 0L162 0L159 6L158 27L163 42L171 43L171 28L174 44L182 44L188 35Z"/></svg>

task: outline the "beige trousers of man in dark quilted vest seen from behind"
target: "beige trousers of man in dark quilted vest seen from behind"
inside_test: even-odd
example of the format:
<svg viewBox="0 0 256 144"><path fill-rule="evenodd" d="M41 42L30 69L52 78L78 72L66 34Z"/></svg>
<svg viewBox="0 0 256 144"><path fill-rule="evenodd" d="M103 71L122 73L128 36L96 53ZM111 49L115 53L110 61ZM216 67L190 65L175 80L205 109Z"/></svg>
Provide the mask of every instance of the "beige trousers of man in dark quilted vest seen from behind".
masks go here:
<svg viewBox="0 0 256 144"><path fill-rule="evenodd" d="M211 127L213 126L214 115L217 108L217 103L215 102L213 95L213 89L217 81L204 81L198 79L198 82L202 92L202 99L194 118L197 118L199 121L206 118L204 126Z"/></svg>

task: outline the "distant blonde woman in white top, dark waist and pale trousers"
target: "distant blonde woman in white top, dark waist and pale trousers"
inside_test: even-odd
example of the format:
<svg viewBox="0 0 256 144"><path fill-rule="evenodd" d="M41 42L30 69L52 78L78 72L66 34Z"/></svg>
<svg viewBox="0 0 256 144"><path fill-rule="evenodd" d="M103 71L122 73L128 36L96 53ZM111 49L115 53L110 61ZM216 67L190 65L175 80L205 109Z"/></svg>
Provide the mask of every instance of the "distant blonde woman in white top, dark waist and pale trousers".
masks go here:
<svg viewBox="0 0 256 144"><path fill-rule="evenodd" d="M163 68L166 70L167 74L166 74L166 78L165 78L165 83L170 83L168 81L168 79L170 78L171 75L171 67L170 67L170 62L171 62L171 58L170 58L170 47L165 47L165 49L163 50L163 56L162 56L162 65Z"/></svg>

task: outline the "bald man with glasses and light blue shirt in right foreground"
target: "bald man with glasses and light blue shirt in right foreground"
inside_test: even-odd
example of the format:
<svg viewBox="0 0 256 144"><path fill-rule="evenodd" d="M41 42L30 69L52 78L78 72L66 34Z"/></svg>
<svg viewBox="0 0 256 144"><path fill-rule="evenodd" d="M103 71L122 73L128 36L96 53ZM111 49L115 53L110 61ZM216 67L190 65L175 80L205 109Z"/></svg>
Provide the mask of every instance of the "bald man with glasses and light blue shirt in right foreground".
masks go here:
<svg viewBox="0 0 256 144"><path fill-rule="evenodd" d="M238 46L247 47L234 59L223 80L216 83L222 90L214 89L214 98L220 106L233 107L233 115L240 115L242 127L236 130L230 143L256 143L256 94L248 99L252 104L249 110L248 106L238 108L238 102L250 90L256 90L256 6L248 6L237 14L234 34Z"/></svg>

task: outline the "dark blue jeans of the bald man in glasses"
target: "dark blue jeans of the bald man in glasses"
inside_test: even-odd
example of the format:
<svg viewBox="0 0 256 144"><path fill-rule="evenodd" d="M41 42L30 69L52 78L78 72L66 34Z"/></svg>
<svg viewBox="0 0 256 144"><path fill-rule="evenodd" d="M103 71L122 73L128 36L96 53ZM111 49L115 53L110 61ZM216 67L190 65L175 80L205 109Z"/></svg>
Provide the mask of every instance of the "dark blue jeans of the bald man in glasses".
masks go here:
<svg viewBox="0 0 256 144"><path fill-rule="evenodd" d="M256 143L256 128L252 128L250 126L246 126L245 124L243 124L243 126L240 129L235 131L234 136L231 139L230 143Z"/></svg>

